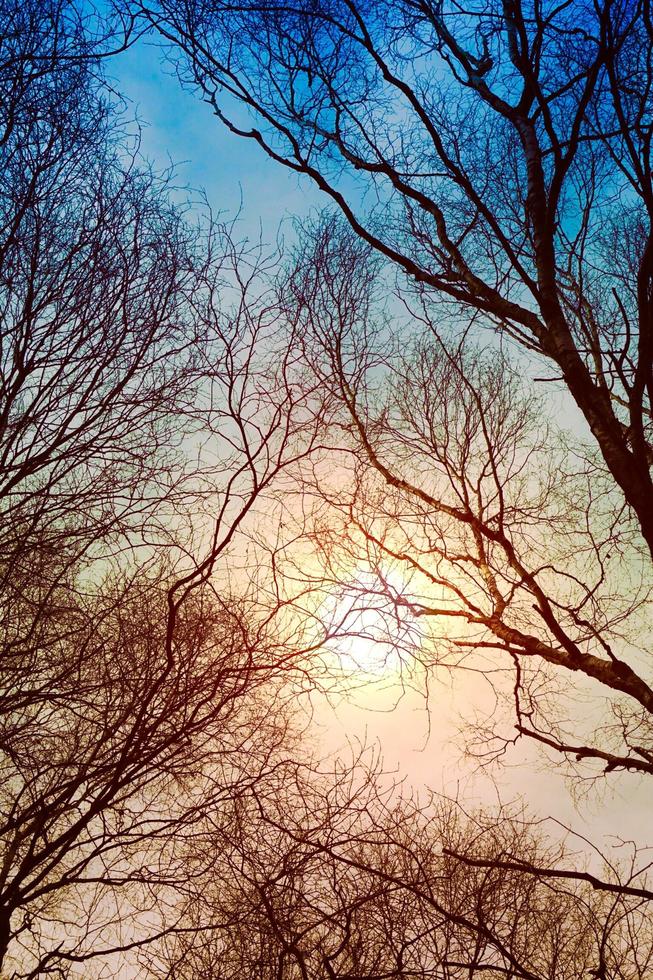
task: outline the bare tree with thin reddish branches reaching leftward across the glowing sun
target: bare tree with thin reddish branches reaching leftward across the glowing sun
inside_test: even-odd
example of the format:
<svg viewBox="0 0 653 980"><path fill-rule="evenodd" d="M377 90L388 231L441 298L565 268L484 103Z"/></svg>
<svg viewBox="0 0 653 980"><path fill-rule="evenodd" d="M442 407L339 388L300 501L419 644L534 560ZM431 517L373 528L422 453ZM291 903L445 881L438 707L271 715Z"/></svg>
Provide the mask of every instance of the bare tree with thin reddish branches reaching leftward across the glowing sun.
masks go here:
<svg viewBox="0 0 653 980"><path fill-rule="evenodd" d="M388 642L402 623L408 667L473 671L512 705L506 728L492 701L481 755L526 736L588 775L650 775L650 565L591 443L430 304L393 336L368 250L333 222L313 231L284 291L358 453L322 488L340 515L321 534L333 580L378 609Z"/></svg>

